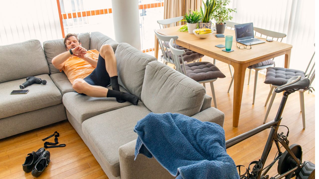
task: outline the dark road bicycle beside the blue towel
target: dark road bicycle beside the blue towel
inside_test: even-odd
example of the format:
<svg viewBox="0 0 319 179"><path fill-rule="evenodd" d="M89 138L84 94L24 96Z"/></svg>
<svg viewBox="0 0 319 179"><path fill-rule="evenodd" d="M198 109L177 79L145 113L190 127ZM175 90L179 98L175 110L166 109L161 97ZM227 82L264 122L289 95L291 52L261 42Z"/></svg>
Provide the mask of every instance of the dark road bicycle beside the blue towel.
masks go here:
<svg viewBox="0 0 319 179"><path fill-rule="evenodd" d="M289 128L285 125L280 125L282 120L282 112L285 108L285 104L288 96L300 89L307 89L309 87L309 79L305 78L301 80L301 76L295 76L288 80L288 82L282 86L279 86L275 91L277 93L283 92L283 97L281 99L277 115L275 119L271 122L268 122L264 125L261 125L251 131L245 132L241 135L238 135L230 140L226 141L226 148L232 147L239 142L248 139L249 137L256 135L263 130L271 128L271 131L268 136L263 154L258 161L252 161L248 168L245 168L245 172L241 174L241 168L243 165L238 165L238 171L241 179L280 179L284 178L289 179L296 177L296 179L314 179L315 178L315 164L310 161L302 162L302 149L298 144L289 145L288 134ZM288 132L284 135L284 132L278 132L280 126L285 126L288 129ZM265 161L269 155L272 144L275 143L278 149L278 155L276 154L275 159L266 167ZM279 143L286 149L285 152L281 152ZM269 176L267 172L271 167L278 161L278 175ZM250 166L254 165L252 169Z"/></svg>

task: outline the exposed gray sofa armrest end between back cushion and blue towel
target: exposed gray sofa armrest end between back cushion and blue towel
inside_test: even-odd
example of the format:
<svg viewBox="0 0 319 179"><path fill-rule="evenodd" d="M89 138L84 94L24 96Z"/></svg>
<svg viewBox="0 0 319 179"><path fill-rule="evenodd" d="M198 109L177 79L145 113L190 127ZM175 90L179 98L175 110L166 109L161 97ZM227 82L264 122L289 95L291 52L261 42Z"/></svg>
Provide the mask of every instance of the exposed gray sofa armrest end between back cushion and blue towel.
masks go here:
<svg viewBox="0 0 319 179"><path fill-rule="evenodd" d="M225 114L222 111L219 111L218 109L213 107L205 109L204 111L199 112L191 117L201 120L203 122L209 121L209 122L219 124L222 127L224 126Z"/></svg>

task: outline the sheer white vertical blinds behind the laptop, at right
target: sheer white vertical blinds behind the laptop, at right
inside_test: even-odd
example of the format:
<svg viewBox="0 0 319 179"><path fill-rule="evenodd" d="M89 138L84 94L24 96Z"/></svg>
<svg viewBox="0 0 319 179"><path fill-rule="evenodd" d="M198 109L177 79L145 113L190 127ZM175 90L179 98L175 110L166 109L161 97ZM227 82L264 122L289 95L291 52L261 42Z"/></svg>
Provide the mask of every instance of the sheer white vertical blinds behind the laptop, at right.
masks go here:
<svg viewBox="0 0 319 179"><path fill-rule="evenodd" d="M230 7L237 9L233 22L286 33L282 42L293 45L289 68L306 70L315 51L315 0L233 0ZM284 67L284 56L275 62Z"/></svg>

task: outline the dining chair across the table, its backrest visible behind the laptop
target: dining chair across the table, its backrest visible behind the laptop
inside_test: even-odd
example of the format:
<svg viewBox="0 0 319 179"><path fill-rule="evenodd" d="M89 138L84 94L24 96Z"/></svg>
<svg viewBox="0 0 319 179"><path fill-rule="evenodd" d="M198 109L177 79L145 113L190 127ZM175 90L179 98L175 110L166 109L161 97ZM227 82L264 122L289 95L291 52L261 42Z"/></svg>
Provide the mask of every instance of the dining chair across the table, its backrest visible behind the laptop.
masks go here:
<svg viewBox="0 0 319 179"><path fill-rule="evenodd" d="M255 38L258 37L258 36L256 37L256 35L257 35L256 33L257 32L260 34L260 37L262 37L262 35L264 35L264 36L266 36L266 39L267 38L271 38L272 40L275 39L276 41L280 41L280 42L282 41L283 38L286 37L285 33L274 32L274 31L270 31L270 30L266 30L266 29L261 29L261 28L258 28L258 27L254 27L254 31L255 31ZM250 81L251 70L252 69L255 70L253 104L255 104L255 98L256 98L258 72L260 70L263 70L263 69L266 69L268 67L274 66L275 65L275 61L273 61L273 60L274 60L274 58L266 60L266 61L262 61L262 62L259 62L259 63L256 63L254 65L250 65L249 67L247 67L247 68L249 68L248 84L249 84L249 81ZM229 84L228 92L229 92L230 88L232 87L233 82L234 82L234 76L233 76L233 78L232 78L232 80L231 80L231 82Z"/></svg>

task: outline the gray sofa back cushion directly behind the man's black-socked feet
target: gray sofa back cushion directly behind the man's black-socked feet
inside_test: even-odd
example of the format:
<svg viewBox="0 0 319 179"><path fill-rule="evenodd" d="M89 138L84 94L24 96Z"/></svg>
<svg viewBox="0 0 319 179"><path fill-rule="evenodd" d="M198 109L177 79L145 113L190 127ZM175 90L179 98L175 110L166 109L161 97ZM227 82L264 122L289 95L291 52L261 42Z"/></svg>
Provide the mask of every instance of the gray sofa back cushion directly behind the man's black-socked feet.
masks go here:
<svg viewBox="0 0 319 179"><path fill-rule="evenodd" d="M119 84L141 99L145 67L156 58L142 53L127 43L120 43L115 51Z"/></svg>

